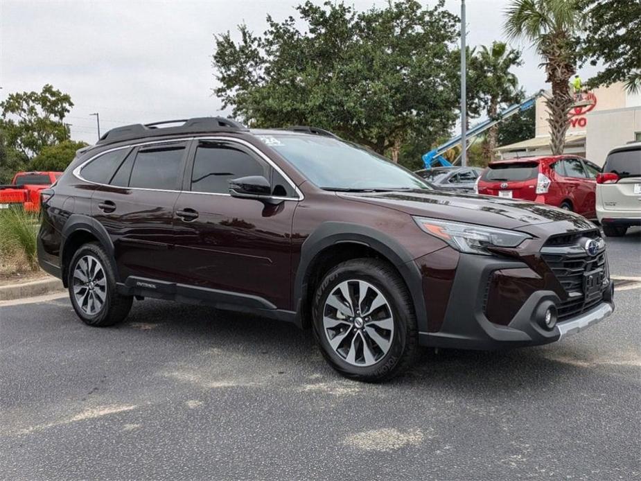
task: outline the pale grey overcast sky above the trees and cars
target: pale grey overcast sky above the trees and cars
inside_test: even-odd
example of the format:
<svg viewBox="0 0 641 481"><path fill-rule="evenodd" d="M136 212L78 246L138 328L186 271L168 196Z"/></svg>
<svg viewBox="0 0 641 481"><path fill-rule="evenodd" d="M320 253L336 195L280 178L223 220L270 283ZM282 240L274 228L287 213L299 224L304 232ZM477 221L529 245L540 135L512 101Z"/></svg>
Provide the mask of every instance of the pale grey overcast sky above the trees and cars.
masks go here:
<svg viewBox="0 0 641 481"><path fill-rule="evenodd" d="M302 1L302 0L301 0ZM103 130L220 113L211 95L214 33L241 23L265 30L265 15L295 15L297 0L30 1L0 0L0 98L46 83L71 95L73 139ZM358 10L386 1L347 0ZM434 5L434 1L423 1ZM467 0L468 44L502 38L508 0ZM457 15L459 0L446 1ZM515 44L523 48L523 45ZM545 87L531 49L516 69L528 93ZM593 70L581 71L589 77ZM225 113L225 112L224 112Z"/></svg>

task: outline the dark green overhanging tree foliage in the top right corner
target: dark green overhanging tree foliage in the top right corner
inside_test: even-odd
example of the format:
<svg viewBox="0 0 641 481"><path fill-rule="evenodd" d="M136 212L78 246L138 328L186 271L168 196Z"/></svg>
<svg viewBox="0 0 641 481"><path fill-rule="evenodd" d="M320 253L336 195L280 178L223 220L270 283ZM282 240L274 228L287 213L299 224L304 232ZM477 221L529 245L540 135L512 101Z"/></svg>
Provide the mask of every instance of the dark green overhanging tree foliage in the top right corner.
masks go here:
<svg viewBox="0 0 641 481"><path fill-rule="evenodd" d="M592 87L623 80L641 91L641 1L586 0L586 37L581 53L604 68L588 82Z"/></svg>

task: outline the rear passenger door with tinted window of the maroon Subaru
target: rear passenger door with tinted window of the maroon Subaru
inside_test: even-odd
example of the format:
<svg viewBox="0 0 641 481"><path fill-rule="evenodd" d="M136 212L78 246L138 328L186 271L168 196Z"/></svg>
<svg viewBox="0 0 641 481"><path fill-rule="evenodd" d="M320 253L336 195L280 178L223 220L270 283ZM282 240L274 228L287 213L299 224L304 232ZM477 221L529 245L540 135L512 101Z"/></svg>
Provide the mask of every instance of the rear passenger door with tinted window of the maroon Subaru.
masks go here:
<svg viewBox="0 0 641 481"><path fill-rule="evenodd" d="M130 276L171 280L173 207L186 146L182 141L134 148L94 192L91 213L112 238L123 281Z"/></svg>

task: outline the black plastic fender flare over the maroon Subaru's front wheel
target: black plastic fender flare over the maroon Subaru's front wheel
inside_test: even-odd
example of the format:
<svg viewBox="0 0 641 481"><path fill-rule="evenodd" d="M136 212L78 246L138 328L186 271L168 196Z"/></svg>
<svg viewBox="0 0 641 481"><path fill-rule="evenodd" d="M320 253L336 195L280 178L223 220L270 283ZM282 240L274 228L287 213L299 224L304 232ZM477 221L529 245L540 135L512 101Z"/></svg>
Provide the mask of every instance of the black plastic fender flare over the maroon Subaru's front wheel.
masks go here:
<svg viewBox="0 0 641 481"><path fill-rule="evenodd" d="M305 239L301 246L301 258L293 286L292 299L297 309L297 316L302 316L301 306L307 292L310 265L327 247L340 243L366 245L394 265L410 290L419 331L427 331L428 317L423 296L423 278L412 255L393 237L372 227L351 222L323 222Z"/></svg>

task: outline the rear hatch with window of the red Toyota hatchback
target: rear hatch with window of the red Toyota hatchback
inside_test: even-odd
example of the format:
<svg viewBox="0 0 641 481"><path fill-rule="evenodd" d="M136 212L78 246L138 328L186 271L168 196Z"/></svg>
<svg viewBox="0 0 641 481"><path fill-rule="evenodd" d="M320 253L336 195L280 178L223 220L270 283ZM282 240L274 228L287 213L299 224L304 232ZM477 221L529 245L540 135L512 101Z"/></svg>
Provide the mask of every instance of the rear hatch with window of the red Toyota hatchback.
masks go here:
<svg viewBox="0 0 641 481"><path fill-rule="evenodd" d="M481 175L479 193L534 201L537 177L538 161L490 164Z"/></svg>

